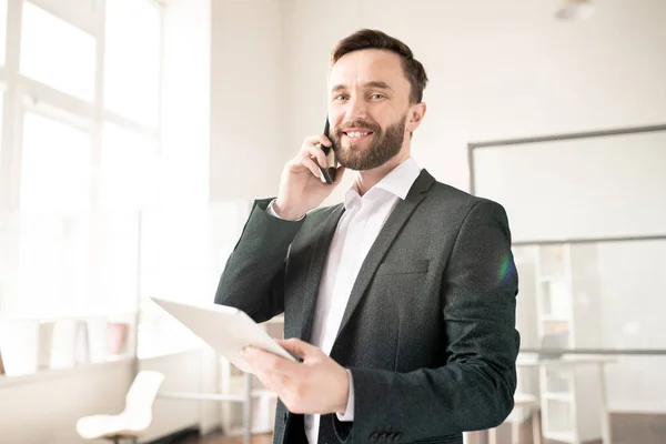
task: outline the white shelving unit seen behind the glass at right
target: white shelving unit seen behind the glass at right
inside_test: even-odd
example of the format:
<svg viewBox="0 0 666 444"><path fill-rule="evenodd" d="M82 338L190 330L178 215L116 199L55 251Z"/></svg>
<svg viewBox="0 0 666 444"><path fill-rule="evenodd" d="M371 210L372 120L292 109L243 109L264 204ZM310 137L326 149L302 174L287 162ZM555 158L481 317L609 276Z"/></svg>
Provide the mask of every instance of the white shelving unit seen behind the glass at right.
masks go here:
<svg viewBox="0 0 666 444"><path fill-rule="evenodd" d="M566 243L537 249L533 280L541 347L579 347L598 342L601 295L598 287L582 283L598 280L595 249ZM585 301L578 296L581 292L586 293ZM581 372L564 361L538 362L543 435L548 441L572 444L579 443L583 433L596 440L601 431L595 430L599 426L595 425L598 407L594 393L599 381L592 372ZM588 408L576 408L576 402L583 400Z"/></svg>

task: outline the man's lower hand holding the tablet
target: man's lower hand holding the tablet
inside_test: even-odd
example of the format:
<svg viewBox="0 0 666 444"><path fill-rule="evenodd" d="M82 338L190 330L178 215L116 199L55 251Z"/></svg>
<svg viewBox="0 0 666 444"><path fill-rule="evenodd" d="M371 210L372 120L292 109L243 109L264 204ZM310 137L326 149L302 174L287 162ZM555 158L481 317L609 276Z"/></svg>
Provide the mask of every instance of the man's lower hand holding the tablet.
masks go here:
<svg viewBox="0 0 666 444"><path fill-rule="evenodd" d="M266 389L275 392L292 413L343 414L350 392L346 370L316 346L299 339L276 341L303 362L289 361L256 347L246 347L242 356Z"/></svg>

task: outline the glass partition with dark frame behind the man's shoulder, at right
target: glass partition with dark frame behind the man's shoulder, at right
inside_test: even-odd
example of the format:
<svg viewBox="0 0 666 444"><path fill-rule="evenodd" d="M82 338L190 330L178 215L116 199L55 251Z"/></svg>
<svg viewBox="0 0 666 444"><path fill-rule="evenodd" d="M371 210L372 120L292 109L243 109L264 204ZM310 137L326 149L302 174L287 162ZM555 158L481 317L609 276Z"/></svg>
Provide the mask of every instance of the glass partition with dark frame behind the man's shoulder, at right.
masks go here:
<svg viewBox="0 0 666 444"><path fill-rule="evenodd" d="M664 442L666 125L468 148L519 279L516 408L497 442L534 442L533 426L547 443Z"/></svg>

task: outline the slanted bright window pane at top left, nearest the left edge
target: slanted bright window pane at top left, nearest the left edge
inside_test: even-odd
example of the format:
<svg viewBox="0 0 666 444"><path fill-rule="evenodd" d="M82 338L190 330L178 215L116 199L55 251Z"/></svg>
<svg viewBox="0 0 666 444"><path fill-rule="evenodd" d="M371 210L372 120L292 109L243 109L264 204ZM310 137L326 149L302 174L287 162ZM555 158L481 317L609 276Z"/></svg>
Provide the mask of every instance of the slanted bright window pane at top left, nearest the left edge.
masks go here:
<svg viewBox="0 0 666 444"><path fill-rule="evenodd" d="M20 72L50 87L94 99L95 40L79 28L23 2Z"/></svg>

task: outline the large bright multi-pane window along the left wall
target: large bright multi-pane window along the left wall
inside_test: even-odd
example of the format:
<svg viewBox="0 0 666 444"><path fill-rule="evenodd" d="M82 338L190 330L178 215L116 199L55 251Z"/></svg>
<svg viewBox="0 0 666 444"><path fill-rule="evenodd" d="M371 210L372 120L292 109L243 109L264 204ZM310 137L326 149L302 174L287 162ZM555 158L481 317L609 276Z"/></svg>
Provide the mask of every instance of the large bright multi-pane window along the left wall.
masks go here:
<svg viewBox="0 0 666 444"><path fill-rule="evenodd" d="M88 360L133 353L140 214L157 198L161 46L158 0L0 0L8 373L81 360L62 347L79 346L81 332ZM44 346L60 354L44 361Z"/></svg>

